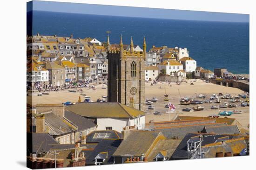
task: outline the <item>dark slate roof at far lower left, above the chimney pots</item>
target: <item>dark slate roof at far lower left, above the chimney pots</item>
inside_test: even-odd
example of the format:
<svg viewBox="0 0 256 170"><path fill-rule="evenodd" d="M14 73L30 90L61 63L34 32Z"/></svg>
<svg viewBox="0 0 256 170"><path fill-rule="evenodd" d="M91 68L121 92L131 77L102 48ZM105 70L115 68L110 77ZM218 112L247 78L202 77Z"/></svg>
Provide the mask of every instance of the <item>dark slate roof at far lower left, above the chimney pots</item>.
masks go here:
<svg viewBox="0 0 256 170"><path fill-rule="evenodd" d="M47 152L51 144L59 144L48 133L27 133L27 151L29 153Z"/></svg>

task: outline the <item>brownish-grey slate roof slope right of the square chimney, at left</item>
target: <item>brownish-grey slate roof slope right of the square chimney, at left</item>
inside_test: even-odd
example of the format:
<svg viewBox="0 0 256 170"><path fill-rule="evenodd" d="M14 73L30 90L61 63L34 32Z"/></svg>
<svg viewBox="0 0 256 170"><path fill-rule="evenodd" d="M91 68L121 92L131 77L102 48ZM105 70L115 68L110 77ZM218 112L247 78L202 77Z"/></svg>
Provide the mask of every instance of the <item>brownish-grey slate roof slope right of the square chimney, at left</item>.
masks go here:
<svg viewBox="0 0 256 170"><path fill-rule="evenodd" d="M45 122L50 126L50 135L61 135L75 130L76 127L68 125L68 122L54 113L45 114Z"/></svg>

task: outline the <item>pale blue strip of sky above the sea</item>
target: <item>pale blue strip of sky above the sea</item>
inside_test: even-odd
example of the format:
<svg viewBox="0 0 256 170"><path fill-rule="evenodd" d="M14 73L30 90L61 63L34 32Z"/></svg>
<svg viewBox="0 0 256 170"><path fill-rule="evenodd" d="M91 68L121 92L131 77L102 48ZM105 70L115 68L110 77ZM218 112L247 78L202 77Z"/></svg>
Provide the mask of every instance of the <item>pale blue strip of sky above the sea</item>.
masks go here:
<svg viewBox="0 0 256 170"><path fill-rule="evenodd" d="M29 7L28 7L29 8ZM223 22L249 22L249 14L213 13L173 9L142 8L129 6L107 6L81 3L33 1L33 10L63 13L85 13L124 17L158 19L186 19Z"/></svg>

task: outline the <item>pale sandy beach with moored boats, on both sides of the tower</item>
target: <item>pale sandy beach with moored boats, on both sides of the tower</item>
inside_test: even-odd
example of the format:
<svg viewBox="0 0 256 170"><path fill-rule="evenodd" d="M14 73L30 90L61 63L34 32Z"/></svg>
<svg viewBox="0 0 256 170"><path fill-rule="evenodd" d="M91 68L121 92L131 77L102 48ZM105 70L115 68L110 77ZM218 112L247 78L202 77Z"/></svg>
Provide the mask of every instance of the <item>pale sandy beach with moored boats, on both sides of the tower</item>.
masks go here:
<svg viewBox="0 0 256 170"><path fill-rule="evenodd" d="M193 81L193 80L192 80ZM170 86L171 85L171 86ZM98 98L101 98L102 95L107 95L107 85L96 85L96 90L88 89L88 88L82 88L83 94L86 94L91 97L91 100L96 101ZM105 88L105 89L104 89ZM168 99L169 101L164 101L166 97L164 97L164 94L168 93ZM179 93L180 92L180 93ZM188 83L182 83L181 85L176 85L175 83L166 83L166 82L158 82L158 84L151 86L151 82L146 83L146 99L152 99L153 96L157 97L158 101L153 103L155 106L154 110L148 110L148 106L146 105L145 112L146 114L146 122L149 122L149 120L154 119L154 121L167 121L172 120L176 114L178 115L189 115L189 116L209 116L210 114L217 114L219 110L212 110L210 107L213 105L211 103L207 104L201 104L202 107L204 107L203 111L194 111L194 112L182 112L183 108L186 107L195 107L196 105L190 105L190 106L184 106L180 105L179 99L180 97L193 97L196 98L198 94L206 94L205 99L199 99L199 100L206 100L209 99L209 97L212 94L243 94L244 91L238 89L238 88L231 88L231 87L225 87L220 86L212 83L206 83L202 80L196 80L194 82L194 85L190 85L190 80L188 80ZM79 96L81 96L81 100L84 100L84 96L81 95L81 92L69 92L68 90L60 91L60 92L49 92L49 95L42 95L37 96L37 93L34 93L33 95L33 106L35 106L37 103L63 103L66 101L71 102L78 102ZM31 99L32 96L27 96L28 99ZM244 99L241 99L242 101ZM28 100L29 101L29 100ZM175 105L176 109L173 113L167 113L169 112L168 108L165 108L164 106L171 102ZM229 102L228 99L222 100L223 102ZM31 103L30 103L31 104ZM239 105L240 103L236 103ZM219 105L219 103L215 103L215 105ZM246 129L249 124L249 107L234 107L234 108L220 108L220 111L233 111L233 110L241 110L243 111L242 114L232 114L229 116L230 118L236 118L242 126ZM153 115L153 112L160 111L163 114L161 116L155 116ZM221 116L223 117L223 116Z"/></svg>

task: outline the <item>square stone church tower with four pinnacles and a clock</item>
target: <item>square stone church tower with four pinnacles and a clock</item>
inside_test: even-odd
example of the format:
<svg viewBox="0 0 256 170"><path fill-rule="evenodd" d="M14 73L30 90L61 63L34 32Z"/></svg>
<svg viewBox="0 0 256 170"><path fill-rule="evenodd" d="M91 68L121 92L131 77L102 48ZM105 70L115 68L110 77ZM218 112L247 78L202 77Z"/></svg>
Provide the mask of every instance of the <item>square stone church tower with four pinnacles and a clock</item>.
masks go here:
<svg viewBox="0 0 256 170"><path fill-rule="evenodd" d="M123 50L122 36L119 50L108 51L108 102L117 101L138 110L145 107L146 40L143 52L135 51L131 38L130 50Z"/></svg>

